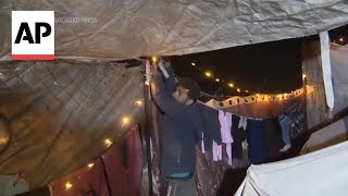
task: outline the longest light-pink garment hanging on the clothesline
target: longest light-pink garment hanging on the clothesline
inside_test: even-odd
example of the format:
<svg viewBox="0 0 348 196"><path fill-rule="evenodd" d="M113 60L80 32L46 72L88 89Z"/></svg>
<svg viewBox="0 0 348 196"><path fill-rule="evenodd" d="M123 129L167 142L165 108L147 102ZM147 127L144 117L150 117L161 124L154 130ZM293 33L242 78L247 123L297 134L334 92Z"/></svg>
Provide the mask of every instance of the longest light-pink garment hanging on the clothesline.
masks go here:
<svg viewBox="0 0 348 196"><path fill-rule="evenodd" d="M221 139L223 144L226 144L226 154L228 158L228 164L232 164L232 143L233 137L231 135L232 127L232 114L219 110L219 121L221 124Z"/></svg>

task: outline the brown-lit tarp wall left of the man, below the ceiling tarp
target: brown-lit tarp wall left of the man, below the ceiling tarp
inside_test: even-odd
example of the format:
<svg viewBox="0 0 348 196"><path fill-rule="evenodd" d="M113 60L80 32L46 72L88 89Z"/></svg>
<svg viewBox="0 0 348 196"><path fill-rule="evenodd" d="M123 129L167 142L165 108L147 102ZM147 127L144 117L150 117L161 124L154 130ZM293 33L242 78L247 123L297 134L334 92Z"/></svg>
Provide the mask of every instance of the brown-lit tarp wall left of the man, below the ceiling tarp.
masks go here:
<svg viewBox="0 0 348 196"><path fill-rule="evenodd" d="M12 124L12 139L0 173L24 171L30 189L44 186L101 155L105 138L122 138L128 127L123 117L144 122L144 108L135 105L144 100L141 69L128 65L1 64L0 113Z"/></svg>

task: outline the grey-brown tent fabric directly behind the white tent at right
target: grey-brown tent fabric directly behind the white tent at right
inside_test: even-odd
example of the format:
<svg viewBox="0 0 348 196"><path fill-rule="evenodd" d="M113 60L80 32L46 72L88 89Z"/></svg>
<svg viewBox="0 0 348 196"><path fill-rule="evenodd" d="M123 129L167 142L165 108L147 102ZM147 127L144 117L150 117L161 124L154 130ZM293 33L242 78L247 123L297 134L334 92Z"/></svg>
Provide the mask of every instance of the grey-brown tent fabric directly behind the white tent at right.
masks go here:
<svg viewBox="0 0 348 196"><path fill-rule="evenodd" d="M309 154L348 140L348 117L314 132L303 145L300 155Z"/></svg>

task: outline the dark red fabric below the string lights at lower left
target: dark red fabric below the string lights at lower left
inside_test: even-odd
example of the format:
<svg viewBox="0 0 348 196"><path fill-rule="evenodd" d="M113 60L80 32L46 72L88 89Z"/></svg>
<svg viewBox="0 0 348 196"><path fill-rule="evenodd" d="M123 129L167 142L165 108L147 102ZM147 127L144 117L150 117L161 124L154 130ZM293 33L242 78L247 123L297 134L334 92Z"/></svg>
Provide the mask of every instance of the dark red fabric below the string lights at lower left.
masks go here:
<svg viewBox="0 0 348 196"><path fill-rule="evenodd" d="M51 184L59 196L139 196L141 192L142 149L137 126L125 136L125 149L114 145L94 162ZM123 156L123 154L125 154ZM101 161L102 160L102 161ZM65 183L72 187L66 188ZM109 187L108 188L108 183Z"/></svg>

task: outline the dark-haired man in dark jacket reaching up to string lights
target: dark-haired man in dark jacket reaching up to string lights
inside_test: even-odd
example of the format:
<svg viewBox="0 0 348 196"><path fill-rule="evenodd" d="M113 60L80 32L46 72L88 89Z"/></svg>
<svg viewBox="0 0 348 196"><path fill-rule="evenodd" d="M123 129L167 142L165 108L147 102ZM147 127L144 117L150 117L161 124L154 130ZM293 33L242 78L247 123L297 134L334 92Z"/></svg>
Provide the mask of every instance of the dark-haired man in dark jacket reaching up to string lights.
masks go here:
<svg viewBox="0 0 348 196"><path fill-rule="evenodd" d="M156 105L163 111L161 128L161 174L169 181L167 195L196 195L196 150L200 140L200 115L195 105L200 97L198 84L182 78L175 88L174 71L169 62L165 78L152 63L151 94Z"/></svg>

